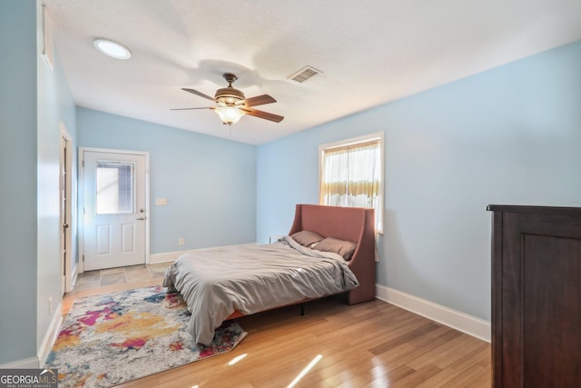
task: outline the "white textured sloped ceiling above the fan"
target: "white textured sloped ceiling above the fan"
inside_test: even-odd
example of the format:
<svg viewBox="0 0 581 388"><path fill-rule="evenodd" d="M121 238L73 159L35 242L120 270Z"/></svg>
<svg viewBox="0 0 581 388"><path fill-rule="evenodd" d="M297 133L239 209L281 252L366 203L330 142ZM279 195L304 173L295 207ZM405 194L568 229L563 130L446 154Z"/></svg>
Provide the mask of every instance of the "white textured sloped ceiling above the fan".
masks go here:
<svg viewBox="0 0 581 388"><path fill-rule="evenodd" d="M581 39L579 0L46 0L79 106L261 144ZM105 37L133 56L115 60ZM288 77L305 65L323 73ZM231 128L206 95L268 94Z"/></svg>

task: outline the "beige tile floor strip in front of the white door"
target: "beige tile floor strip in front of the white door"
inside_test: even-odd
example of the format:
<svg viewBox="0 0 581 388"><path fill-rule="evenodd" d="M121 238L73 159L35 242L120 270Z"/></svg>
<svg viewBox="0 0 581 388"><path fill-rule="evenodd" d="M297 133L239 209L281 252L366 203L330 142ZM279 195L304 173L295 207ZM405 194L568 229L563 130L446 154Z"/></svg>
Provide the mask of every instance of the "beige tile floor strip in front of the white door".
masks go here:
<svg viewBox="0 0 581 388"><path fill-rule="evenodd" d="M162 279L170 263L141 264L106 270L87 271L79 274L74 291L88 290L112 284L128 284L139 281Z"/></svg>

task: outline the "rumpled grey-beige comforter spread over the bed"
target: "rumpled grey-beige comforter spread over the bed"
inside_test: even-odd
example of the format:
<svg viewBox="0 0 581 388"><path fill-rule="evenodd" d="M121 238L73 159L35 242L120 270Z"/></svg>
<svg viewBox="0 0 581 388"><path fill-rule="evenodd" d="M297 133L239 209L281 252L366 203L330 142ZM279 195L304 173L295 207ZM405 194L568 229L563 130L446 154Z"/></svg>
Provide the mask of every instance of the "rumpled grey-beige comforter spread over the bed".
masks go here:
<svg viewBox="0 0 581 388"><path fill-rule="evenodd" d="M163 286L182 293L192 313L189 332L209 345L234 310L258 313L359 285L339 254L305 248L285 236L276 244L241 245L182 254Z"/></svg>

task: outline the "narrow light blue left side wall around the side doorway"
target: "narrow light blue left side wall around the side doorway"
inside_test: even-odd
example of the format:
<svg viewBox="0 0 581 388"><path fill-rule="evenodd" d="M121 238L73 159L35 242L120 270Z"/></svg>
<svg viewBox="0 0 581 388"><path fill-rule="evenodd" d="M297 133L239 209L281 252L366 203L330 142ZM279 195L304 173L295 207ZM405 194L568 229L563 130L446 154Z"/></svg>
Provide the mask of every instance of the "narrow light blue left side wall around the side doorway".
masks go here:
<svg viewBox="0 0 581 388"><path fill-rule="evenodd" d="M37 2L37 53L43 52L42 4ZM50 12L50 7L49 7ZM37 348L40 348L51 320L62 299L61 290L61 221L60 221L60 150L61 128L76 136L76 108L58 52L54 47L52 70L43 55L36 56L37 68ZM73 161L71 176L76 176ZM73 189L74 190L74 189ZM75 196L69 198L74 204ZM71 217L76 219L75 208ZM76 241L76 222L71 224ZM75 245L75 244L74 244ZM76 249L68 253L74 261ZM70 267L72 268L72 267ZM49 298L51 303L49 306ZM52 306L52 307L51 307ZM50 311L50 313L49 313Z"/></svg>

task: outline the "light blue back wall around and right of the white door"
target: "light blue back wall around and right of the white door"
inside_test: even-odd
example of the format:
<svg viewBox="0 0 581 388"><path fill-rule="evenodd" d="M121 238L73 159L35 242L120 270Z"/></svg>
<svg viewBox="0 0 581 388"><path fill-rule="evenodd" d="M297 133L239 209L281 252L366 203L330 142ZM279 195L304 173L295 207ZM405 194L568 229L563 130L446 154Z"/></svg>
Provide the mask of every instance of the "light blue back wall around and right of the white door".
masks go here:
<svg viewBox="0 0 581 388"><path fill-rule="evenodd" d="M77 128L80 146L150 153L152 254L256 241L254 145L85 108Z"/></svg>

